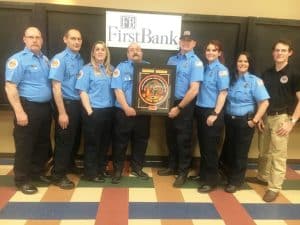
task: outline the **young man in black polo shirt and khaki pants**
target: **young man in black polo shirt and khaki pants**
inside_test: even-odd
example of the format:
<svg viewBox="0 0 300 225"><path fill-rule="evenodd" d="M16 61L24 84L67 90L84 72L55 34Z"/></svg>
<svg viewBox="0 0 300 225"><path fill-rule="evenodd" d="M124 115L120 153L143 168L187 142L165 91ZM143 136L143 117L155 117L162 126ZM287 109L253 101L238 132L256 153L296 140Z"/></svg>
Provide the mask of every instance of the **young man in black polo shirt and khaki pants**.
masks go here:
<svg viewBox="0 0 300 225"><path fill-rule="evenodd" d="M258 123L258 174L248 179L268 186L263 196L266 202L274 201L282 187L289 134L300 116L300 74L288 64L291 42L278 40L272 50L275 65L262 75L271 98L264 120Z"/></svg>

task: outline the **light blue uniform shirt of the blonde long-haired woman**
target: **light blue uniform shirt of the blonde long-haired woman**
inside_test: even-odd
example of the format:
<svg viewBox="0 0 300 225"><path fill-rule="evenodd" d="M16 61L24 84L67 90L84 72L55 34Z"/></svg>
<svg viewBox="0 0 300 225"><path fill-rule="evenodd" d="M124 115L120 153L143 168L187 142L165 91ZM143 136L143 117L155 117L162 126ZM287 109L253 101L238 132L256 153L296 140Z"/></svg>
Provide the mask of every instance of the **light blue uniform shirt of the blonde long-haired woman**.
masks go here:
<svg viewBox="0 0 300 225"><path fill-rule="evenodd" d="M99 66L99 70L101 72L95 71L90 63L85 65L79 72L75 88L88 94L92 108L112 107L115 103L110 87L112 77L107 75L103 65Z"/></svg>

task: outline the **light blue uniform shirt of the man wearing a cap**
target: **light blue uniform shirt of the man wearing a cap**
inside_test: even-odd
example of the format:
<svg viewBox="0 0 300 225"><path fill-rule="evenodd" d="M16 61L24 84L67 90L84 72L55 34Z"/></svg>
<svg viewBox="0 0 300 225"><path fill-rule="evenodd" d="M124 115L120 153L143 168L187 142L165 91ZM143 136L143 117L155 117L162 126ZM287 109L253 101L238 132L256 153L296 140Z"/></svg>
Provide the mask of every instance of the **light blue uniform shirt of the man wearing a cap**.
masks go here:
<svg viewBox="0 0 300 225"><path fill-rule="evenodd" d="M177 100L184 98L192 82L203 81L203 63L194 51L171 56L167 65L176 66L175 99Z"/></svg>

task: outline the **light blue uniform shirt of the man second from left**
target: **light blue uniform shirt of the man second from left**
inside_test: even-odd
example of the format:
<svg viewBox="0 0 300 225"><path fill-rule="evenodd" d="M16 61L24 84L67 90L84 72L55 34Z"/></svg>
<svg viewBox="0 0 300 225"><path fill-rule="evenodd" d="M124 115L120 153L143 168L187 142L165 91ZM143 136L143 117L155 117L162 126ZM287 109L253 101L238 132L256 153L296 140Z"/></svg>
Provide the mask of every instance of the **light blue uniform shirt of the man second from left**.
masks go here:
<svg viewBox="0 0 300 225"><path fill-rule="evenodd" d="M80 99L75 84L82 66L83 60L80 54L72 52L69 48L58 53L51 60L49 79L61 82L63 98Z"/></svg>

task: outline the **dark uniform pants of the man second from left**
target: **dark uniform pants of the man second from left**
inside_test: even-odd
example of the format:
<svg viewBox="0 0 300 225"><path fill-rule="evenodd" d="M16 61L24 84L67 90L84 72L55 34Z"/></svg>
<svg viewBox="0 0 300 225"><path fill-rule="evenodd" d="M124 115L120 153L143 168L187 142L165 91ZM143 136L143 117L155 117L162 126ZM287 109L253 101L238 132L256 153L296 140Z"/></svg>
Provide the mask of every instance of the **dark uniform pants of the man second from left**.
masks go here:
<svg viewBox="0 0 300 225"><path fill-rule="evenodd" d="M72 159L72 153L78 144L78 129L81 126L81 102L79 100L64 100L65 110L69 116L69 125L62 129L58 123L58 112L55 111L55 148L54 168L55 177L66 175Z"/></svg>

